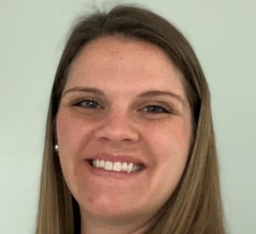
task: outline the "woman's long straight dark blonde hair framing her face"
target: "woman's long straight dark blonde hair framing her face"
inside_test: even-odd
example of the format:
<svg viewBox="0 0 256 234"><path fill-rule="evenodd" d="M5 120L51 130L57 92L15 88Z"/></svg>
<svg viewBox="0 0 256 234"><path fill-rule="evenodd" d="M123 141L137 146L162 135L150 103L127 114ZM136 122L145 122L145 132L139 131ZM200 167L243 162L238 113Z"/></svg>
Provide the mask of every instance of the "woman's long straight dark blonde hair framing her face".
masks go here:
<svg viewBox="0 0 256 234"><path fill-rule="evenodd" d="M183 177L145 233L224 234L211 100L200 63L176 27L148 9L129 5L80 19L67 40L49 101L36 233L79 233L79 205L67 188L54 150L55 119L73 60L87 43L108 36L135 38L165 51L183 74L192 111L193 140Z"/></svg>

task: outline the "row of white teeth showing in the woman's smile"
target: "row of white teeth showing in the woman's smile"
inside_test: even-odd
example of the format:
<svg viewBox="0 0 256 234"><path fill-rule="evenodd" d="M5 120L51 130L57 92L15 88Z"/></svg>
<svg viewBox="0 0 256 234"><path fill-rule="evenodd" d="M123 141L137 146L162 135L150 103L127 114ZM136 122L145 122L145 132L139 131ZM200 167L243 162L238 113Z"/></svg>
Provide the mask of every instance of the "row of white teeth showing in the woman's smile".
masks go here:
<svg viewBox="0 0 256 234"><path fill-rule="evenodd" d="M137 172L140 169L139 165L133 163L120 163L120 162L109 162L104 160L92 160L92 166L94 168L104 168L105 170L113 171L125 171L128 173Z"/></svg>

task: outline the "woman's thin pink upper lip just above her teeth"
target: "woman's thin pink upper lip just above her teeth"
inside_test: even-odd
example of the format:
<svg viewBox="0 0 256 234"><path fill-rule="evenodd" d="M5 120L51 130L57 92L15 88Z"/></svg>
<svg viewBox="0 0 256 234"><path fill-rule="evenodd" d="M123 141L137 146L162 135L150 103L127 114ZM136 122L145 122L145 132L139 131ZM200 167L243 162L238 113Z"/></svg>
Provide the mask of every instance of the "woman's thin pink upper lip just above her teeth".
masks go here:
<svg viewBox="0 0 256 234"><path fill-rule="evenodd" d="M134 163L134 164L142 164L146 167L146 163L143 162L143 160L133 157L128 154L110 154L110 153L98 153L92 157L87 158L87 160L104 160L104 161L110 161L110 162L120 162L120 163Z"/></svg>

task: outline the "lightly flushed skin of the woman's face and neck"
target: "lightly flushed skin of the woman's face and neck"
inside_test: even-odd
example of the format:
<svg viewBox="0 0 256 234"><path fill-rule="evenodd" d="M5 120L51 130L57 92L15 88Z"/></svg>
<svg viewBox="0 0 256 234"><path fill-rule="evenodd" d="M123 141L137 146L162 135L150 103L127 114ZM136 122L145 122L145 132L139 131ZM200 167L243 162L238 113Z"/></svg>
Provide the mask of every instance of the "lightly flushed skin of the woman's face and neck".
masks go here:
<svg viewBox="0 0 256 234"><path fill-rule="evenodd" d="M56 128L61 168L79 203L83 234L143 233L172 195L192 130L182 79L156 45L123 37L96 39L73 61ZM99 88L104 95L70 90L77 87ZM179 99L139 96L148 90ZM74 106L86 99L96 100L93 108L84 106L88 101ZM121 180L95 176L84 158L101 152L129 154L146 168Z"/></svg>

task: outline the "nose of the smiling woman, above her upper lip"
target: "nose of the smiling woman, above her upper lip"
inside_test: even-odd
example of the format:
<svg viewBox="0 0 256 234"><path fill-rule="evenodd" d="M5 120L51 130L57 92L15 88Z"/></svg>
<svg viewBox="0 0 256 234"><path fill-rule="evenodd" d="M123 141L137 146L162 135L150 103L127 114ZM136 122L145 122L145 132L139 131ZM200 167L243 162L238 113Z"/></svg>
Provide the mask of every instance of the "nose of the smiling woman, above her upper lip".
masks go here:
<svg viewBox="0 0 256 234"><path fill-rule="evenodd" d="M111 143L135 143L139 140L139 133L134 121L127 114L111 111L102 117L102 124L96 129L97 140Z"/></svg>

